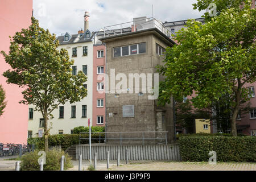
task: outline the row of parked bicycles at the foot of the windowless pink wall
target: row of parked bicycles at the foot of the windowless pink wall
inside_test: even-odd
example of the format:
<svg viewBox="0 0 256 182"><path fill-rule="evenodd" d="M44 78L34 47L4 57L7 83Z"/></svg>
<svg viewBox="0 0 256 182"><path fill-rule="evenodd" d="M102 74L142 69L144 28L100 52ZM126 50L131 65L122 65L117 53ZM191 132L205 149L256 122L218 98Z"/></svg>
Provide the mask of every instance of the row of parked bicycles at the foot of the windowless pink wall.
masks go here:
<svg viewBox="0 0 256 182"><path fill-rule="evenodd" d="M0 158L18 158L23 154L34 151L34 144L3 144L0 143Z"/></svg>

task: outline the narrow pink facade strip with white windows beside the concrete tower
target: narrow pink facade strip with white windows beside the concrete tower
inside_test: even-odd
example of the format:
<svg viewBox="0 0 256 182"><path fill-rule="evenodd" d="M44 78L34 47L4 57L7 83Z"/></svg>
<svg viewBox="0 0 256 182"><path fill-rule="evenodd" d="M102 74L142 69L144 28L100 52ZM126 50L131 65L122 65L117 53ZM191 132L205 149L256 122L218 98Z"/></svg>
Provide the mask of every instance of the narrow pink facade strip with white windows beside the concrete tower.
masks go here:
<svg viewBox="0 0 256 182"><path fill-rule="evenodd" d="M105 50L106 47L103 44L93 46L93 126L105 126L105 88L101 85L104 82L106 70Z"/></svg>

